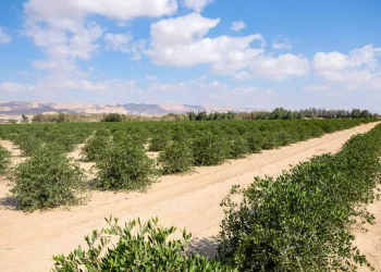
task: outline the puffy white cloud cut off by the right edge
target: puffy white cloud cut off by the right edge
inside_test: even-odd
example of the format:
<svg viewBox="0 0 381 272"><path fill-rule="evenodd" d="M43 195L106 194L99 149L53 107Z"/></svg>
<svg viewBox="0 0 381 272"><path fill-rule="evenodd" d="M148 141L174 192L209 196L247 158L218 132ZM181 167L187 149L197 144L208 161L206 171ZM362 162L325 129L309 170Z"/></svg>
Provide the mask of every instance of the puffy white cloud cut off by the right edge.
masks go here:
<svg viewBox="0 0 381 272"><path fill-rule="evenodd" d="M372 45L352 50L348 54L341 52L318 52L312 66L318 76L328 82L337 82L346 88L380 88L381 48Z"/></svg>

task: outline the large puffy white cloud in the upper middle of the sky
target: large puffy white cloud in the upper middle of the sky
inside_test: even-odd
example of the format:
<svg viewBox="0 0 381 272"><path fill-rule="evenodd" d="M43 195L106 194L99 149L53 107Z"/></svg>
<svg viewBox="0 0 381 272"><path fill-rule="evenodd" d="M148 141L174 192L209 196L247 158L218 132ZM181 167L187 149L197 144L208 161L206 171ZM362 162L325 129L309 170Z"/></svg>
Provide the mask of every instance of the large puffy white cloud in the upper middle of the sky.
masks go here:
<svg viewBox="0 0 381 272"><path fill-rule="evenodd" d="M284 79L308 73L309 62L303 55L267 55L266 41L260 34L206 37L219 22L219 18L204 17L198 13L161 20L151 25L151 44L146 53L160 65L210 64L212 73L232 75L237 79ZM254 41L260 45L253 47Z"/></svg>

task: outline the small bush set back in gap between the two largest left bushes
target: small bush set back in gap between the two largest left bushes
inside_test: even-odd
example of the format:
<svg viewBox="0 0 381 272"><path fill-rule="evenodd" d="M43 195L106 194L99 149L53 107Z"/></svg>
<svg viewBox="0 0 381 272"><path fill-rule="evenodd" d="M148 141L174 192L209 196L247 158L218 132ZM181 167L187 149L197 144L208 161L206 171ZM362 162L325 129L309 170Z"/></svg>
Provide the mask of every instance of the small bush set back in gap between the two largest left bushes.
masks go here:
<svg viewBox="0 0 381 272"><path fill-rule="evenodd" d="M98 161L111 145L111 138L107 136L94 136L82 148L81 156L85 161Z"/></svg>

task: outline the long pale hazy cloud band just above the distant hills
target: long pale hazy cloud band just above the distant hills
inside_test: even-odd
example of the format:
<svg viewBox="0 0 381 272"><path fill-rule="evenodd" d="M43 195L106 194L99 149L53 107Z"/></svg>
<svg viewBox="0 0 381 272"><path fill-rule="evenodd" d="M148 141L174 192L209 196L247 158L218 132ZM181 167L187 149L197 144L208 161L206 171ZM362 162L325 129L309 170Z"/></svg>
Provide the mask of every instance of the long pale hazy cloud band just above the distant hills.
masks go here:
<svg viewBox="0 0 381 272"><path fill-rule="evenodd" d="M33 91L30 91L33 90ZM33 95L34 100L46 102L77 102L76 98L67 96L69 91L89 91L94 103L185 103L241 107L272 108L276 94L272 89L255 86L232 87L219 81L207 81L206 77L180 83L149 83L142 88L135 81L111 79L93 82L81 78L46 77L34 85L3 83L0 94L10 96L12 91ZM85 92L86 94L86 92ZM116 99L116 100L115 100ZM201 101L201 102L200 102Z"/></svg>

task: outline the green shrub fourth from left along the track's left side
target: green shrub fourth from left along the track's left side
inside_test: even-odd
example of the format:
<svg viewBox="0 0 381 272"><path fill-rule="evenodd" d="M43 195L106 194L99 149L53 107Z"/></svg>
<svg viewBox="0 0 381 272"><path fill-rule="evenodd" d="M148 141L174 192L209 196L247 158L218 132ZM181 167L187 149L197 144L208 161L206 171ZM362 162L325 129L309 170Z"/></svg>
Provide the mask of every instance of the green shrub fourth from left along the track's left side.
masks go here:
<svg viewBox="0 0 381 272"><path fill-rule="evenodd" d="M196 165L218 165L229 153L229 141L212 133L200 133L193 140L193 156Z"/></svg>

